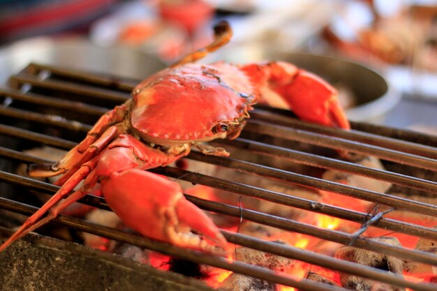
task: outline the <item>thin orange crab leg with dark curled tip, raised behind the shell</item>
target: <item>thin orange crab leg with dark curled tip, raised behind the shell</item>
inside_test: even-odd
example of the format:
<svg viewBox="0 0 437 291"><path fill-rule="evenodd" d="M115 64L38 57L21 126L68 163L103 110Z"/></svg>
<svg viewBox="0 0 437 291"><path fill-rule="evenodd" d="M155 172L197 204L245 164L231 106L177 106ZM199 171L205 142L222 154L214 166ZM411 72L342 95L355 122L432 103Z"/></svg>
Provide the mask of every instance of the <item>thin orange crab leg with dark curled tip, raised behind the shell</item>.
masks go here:
<svg viewBox="0 0 437 291"><path fill-rule="evenodd" d="M170 68L175 68L177 66L182 66L184 64L203 59L210 52L215 52L220 47L223 47L223 45L229 43L230 38L232 38L232 29L230 28L228 22L218 22L218 24L214 26L214 40L212 43L209 43L209 45L202 47L199 50L195 50L194 52L186 54L184 57L182 57L182 59L177 61L175 64L172 64Z"/></svg>

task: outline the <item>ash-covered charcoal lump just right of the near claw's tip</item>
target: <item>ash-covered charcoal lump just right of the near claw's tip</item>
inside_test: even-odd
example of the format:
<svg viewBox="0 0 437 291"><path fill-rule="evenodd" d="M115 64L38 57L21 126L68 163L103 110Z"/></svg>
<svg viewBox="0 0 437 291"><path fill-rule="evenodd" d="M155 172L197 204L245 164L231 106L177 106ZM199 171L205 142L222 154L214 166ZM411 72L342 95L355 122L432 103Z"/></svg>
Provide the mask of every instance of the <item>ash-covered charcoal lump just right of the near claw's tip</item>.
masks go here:
<svg viewBox="0 0 437 291"><path fill-rule="evenodd" d="M276 244L286 244L285 241L273 241ZM292 268L295 260L281 257L280 255L272 255L262 251L256 251L252 248L239 247L235 251L236 259L248 264L255 264L260 267L272 269L274 271L287 271Z"/></svg>

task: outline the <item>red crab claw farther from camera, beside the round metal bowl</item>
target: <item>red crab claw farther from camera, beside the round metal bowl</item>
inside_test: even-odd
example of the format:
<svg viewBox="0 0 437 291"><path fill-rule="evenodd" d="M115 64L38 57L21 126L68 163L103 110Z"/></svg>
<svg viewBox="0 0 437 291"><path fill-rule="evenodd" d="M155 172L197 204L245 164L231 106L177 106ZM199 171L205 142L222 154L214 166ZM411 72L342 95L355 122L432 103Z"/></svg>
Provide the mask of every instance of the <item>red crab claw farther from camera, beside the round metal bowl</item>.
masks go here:
<svg viewBox="0 0 437 291"><path fill-rule="evenodd" d="M336 89L322 78L283 61L241 68L258 87L261 101L291 109L304 121L350 128Z"/></svg>

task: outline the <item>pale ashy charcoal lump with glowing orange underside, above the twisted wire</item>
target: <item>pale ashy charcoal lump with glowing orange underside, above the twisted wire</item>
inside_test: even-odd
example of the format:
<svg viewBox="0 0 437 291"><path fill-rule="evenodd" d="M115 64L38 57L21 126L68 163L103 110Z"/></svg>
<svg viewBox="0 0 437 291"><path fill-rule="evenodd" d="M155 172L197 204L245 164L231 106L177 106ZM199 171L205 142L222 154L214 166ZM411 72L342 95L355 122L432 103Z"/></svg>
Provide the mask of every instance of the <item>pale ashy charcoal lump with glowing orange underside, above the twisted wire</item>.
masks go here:
<svg viewBox="0 0 437 291"><path fill-rule="evenodd" d="M374 158L372 156L364 157L361 161L357 161L357 164L363 165L365 167L384 170L383 164L377 158ZM357 174L349 174L346 172L339 172L335 170L326 171L322 177L323 179L328 181L334 181L337 183L346 184L348 186L363 188L369 191L376 191L379 193L385 193L392 186L390 182L380 181ZM339 195L332 192L320 190L320 193L323 195L323 201L346 209L350 209L351 205L353 205L354 210L366 212L373 204L372 202L360 200L353 197L346 197L344 195Z"/></svg>

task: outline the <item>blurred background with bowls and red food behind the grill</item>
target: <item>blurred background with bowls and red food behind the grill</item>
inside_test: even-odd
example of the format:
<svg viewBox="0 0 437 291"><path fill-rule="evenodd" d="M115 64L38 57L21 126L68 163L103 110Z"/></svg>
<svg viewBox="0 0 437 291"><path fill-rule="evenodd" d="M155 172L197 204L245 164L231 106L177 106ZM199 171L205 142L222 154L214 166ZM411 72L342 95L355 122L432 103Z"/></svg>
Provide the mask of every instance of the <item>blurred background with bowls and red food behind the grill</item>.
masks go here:
<svg viewBox="0 0 437 291"><path fill-rule="evenodd" d="M202 62L281 59L339 90L348 117L437 134L437 1L0 0L0 84L31 61L138 80L212 39Z"/></svg>

